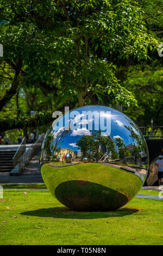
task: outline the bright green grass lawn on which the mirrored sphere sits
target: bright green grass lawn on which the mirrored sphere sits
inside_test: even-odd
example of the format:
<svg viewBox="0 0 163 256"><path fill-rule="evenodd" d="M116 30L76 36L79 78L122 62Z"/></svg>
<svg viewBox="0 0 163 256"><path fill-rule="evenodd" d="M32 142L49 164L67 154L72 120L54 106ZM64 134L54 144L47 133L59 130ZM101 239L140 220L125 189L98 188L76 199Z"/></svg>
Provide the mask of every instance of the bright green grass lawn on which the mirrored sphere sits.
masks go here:
<svg viewBox="0 0 163 256"><path fill-rule="evenodd" d="M0 245L163 245L162 201L134 198L117 211L74 212L48 191L26 193L4 191Z"/></svg>

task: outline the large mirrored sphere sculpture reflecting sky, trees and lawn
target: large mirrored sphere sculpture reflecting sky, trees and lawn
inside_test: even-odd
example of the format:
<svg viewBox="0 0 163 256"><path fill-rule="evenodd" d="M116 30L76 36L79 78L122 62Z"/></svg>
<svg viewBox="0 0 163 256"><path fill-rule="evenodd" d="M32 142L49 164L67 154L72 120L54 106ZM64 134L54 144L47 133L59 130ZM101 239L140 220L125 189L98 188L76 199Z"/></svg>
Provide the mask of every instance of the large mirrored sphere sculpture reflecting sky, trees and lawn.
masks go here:
<svg viewBox="0 0 163 256"><path fill-rule="evenodd" d="M83 106L54 120L41 145L40 167L48 190L68 208L116 210L145 182L148 148L123 113Z"/></svg>

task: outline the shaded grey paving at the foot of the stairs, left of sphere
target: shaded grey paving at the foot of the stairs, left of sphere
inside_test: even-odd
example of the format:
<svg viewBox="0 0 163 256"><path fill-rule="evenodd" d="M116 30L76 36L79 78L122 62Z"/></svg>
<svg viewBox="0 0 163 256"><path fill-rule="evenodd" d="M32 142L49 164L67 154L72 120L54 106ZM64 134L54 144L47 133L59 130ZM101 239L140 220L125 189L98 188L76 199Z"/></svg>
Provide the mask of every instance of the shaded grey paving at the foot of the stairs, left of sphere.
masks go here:
<svg viewBox="0 0 163 256"><path fill-rule="evenodd" d="M29 144L28 144L29 145ZM0 173L0 184L36 184L44 183L39 167L39 155L33 157L29 166L22 172L21 176L10 176L9 172Z"/></svg>

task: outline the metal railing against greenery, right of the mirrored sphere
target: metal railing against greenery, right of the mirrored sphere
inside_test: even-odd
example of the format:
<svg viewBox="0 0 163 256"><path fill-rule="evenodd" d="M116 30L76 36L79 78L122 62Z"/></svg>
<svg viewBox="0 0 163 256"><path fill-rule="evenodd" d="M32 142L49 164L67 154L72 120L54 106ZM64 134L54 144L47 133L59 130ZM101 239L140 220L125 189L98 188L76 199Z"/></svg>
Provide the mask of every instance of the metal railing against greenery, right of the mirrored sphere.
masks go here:
<svg viewBox="0 0 163 256"><path fill-rule="evenodd" d="M163 126L139 127L146 139L163 139Z"/></svg>

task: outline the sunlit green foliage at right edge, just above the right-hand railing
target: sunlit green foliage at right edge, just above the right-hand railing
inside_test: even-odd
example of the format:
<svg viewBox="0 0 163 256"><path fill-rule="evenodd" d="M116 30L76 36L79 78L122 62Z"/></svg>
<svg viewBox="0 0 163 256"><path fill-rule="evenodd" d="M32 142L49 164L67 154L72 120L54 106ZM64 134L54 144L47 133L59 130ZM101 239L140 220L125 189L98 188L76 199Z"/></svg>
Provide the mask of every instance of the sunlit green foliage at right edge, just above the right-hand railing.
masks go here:
<svg viewBox="0 0 163 256"><path fill-rule="evenodd" d="M154 63L155 64L155 63ZM153 65L154 65L153 64ZM140 126L151 124L161 125L163 118L163 71L160 66L148 66L142 70L141 66L132 68L124 86L132 90L139 101L139 107L125 109L125 113L133 120L137 120ZM157 132L157 131L155 131Z"/></svg>

